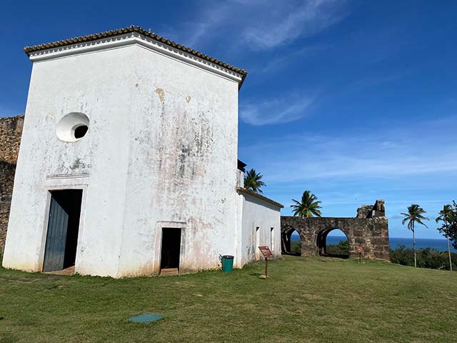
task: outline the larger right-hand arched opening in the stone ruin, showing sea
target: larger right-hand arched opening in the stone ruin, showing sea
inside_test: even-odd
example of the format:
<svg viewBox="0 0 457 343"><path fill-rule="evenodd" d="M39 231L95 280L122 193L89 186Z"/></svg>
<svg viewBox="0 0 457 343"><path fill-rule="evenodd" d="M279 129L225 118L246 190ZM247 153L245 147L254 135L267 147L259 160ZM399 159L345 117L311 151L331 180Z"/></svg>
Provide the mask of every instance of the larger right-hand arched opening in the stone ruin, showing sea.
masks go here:
<svg viewBox="0 0 457 343"><path fill-rule="evenodd" d="M318 233L318 254L327 257L349 257L349 242L347 235L338 228L326 229Z"/></svg>

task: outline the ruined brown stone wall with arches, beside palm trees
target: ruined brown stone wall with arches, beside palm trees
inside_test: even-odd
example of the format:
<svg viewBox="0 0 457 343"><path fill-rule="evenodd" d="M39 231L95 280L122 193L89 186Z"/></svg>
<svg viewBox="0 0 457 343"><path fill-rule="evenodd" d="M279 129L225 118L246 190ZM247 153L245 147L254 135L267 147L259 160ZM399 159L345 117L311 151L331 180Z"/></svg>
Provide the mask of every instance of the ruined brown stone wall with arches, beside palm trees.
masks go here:
<svg viewBox="0 0 457 343"><path fill-rule="evenodd" d="M291 230L295 230L300 234L301 255L318 256L323 237L326 238L333 229L340 229L348 238L349 257L358 257L357 248L361 246L365 257L388 259L388 219L383 202L377 201L375 205L363 206L361 209L363 214L358 211L356 218L281 217L281 238L282 234L286 237ZM325 239L323 242L325 244ZM286 242L284 247L286 248Z"/></svg>

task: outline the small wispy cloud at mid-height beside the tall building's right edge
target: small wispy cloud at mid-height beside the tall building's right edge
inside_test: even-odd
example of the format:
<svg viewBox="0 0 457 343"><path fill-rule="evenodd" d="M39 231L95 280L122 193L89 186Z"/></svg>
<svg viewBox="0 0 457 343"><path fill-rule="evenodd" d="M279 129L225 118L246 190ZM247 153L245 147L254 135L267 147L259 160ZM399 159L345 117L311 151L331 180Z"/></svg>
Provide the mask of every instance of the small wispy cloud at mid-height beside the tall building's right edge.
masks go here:
<svg viewBox="0 0 457 343"><path fill-rule="evenodd" d="M304 116L313 103L308 96L285 96L240 106L241 120L247 124L260 126L283 124L296 121Z"/></svg>

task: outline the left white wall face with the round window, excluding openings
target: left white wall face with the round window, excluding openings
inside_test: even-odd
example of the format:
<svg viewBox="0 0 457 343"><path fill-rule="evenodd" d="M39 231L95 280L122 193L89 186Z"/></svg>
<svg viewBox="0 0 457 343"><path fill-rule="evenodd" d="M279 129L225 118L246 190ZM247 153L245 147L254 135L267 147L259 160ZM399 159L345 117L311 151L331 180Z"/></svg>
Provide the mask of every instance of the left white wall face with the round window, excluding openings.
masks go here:
<svg viewBox="0 0 457 343"><path fill-rule="evenodd" d="M82 188L76 270L115 276L124 217L134 46L34 63L3 265L41 271L49 190ZM84 139L64 142L56 124L89 116Z"/></svg>

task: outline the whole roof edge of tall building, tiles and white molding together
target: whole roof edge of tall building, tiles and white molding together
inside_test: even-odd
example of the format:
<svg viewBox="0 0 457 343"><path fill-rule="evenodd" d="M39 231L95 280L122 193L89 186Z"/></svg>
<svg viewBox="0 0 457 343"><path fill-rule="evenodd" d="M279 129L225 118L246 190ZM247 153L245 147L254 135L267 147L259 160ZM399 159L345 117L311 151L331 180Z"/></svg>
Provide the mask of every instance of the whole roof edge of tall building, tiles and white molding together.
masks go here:
<svg viewBox="0 0 457 343"><path fill-rule="evenodd" d="M89 34L86 36L53 41L50 43L26 46L24 52L29 56L31 61L41 61L44 59L54 59L71 54L79 54L101 49L113 49L119 46L129 44L139 44L146 48L158 51L161 54L173 56L190 64L198 64L204 69L216 71L216 74L224 74L233 81L238 81L239 86L243 84L246 70L239 69L236 66L226 64L219 59L195 51L186 46L178 44L169 39L165 39L154 32L146 31L140 26L128 26L124 29L104 31L98 34Z"/></svg>

